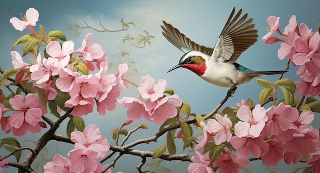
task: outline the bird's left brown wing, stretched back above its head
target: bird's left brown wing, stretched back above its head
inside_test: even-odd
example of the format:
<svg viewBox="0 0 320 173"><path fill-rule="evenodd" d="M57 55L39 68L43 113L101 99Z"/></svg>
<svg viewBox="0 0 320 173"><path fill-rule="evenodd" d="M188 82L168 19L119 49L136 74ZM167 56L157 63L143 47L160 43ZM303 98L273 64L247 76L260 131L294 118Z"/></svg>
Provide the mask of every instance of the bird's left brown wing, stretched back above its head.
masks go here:
<svg viewBox="0 0 320 173"><path fill-rule="evenodd" d="M179 30L173 27L171 24L165 21L163 21L163 23L164 23L164 26L161 25L161 28L163 30L162 34L171 44L173 44L178 49L180 49L181 46L184 46L191 50L197 50L202 53L208 54L209 56L212 54L213 48L201 46L191 41L184 34L180 33Z"/></svg>

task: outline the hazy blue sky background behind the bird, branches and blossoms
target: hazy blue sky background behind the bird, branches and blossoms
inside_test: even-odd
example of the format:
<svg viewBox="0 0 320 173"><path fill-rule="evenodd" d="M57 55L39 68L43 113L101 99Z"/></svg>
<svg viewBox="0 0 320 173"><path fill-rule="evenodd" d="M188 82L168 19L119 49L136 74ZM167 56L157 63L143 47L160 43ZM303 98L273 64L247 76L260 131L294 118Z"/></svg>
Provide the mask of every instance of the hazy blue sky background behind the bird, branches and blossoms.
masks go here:
<svg viewBox="0 0 320 173"><path fill-rule="evenodd" d="M75 49L81 45L82 39L87 33L94 33L92 38L93 43L99 43L102 48L107 51L109 62L119 63L119 59L113 55L125 51L129 53L126 60L135 62L135 68L138 69L138 74L132 72L132 80L139 83L141 76L150 74L156 80L163 78L167 80L167 87L174 89L179 97L191 105L192 112L205 114L210 112L216 105L224 98L227 88L212 85L200 79L196 74L187 69L177 69L170 73L167 71L175 66L182 52L171 45L163 36L160 25L162 20L171 23L177 27L181 33L184 33L191 40L198 44L213 47L216 40L228 18L233 7L236 10L243 9L243 14L248 13L249 17L254 18L256 29L258 30L258 42L251 46L247 51L242 53L237 63L253 69L253 70L283 70L286 61L278 59L277 50L280 44L266 45L261 38L267 33L265 28L267 26L266 19L268 16L280 16L280 28L283 31L288 24L291 15L296 15L298 24L306 23L313 31L318 26L320 13L318 7L320 2L313 1L2 1L0 3L0 22L1 39L0 51L2 52L1 67L6 70L12 68L11 65L11 47L12 44L22 35L29 34L26 29L23 32L14 30L9 19L11 17L20 17L19 13L25 13L30 7L34 7L39 11L39 21L35 30L38 30L38 24L42 24L47 32L52 30L61 30L67 36L67 40L75 42ZM84 26L83 18L88 24L99 27L99 20L102 24L110 29L117 30L121 28L120 19L124 18L126 22L134 22L135 27L130 27L128 31L123 32L104 32L99 33L89 28L79 30L81 35L79 38L73 38L71 31L66 31L67 25L63 24L79 24ZM101 28L101 27L100 27ZM131 37L137 37L138 34L143 34L143 30L149 32L150 35L155 36L151 40L151 45L148 44L144 48L137 48L130 43L122 44L123 37L130 34ZM16 51L22 52L21 47L17 46ZM28 61L28 57L25 57ZM291 78L293 81L298 81L299 76L295 74L297 68L290 66L289 71L285 74L285 78ZM115 72L116 69L111 69ZM262 79L275 81L278 76L262 76ZM262 87L256 82L256 79L242 84L238 87L233 98L229 99L225 106L236 106L236 103L241 102L242 99L252 98L255 103L258 103L258 94ZM138 90L131 86L129 92L124 92L126 96L138 97ZM300 97L300 96L299 96ZM318 115L317 115L318 116ZM101 131L112 141L109 132L121 126L126 117L125 109L116 109L107 112L106 116L99 116L96 112L83 117L86 124L95 123L99 127L103 127ZM316 122L319 118L316 117ZM149 125L150 129L147 131L138 131L131 140L141 137L149 137L154 134L158 128L154 127L152 123L142 121ZM140 122L136 122L131 127L135 127ZM319 124L319 123L317 123ZM153 126L153 127L152 127ZM315 126L316 128L319 128ZM60 133L64 134L65 130L60 129ZM5 135L0 132L1 136ZM41 133L42 134L42 133ZM28 134L28 139L36 140L40 134ZM23 138L21 138L23 140ZM112 142L111 142L112 143ZM53 143L54 145L54 143ZM144 145L136 149L153 150L157 146L162 146L163 143L158 141L152 145ZM152 146L152 147L150 147ZM70 147L70 146L69 146ZM67 153L67 152L65 152ZM182 151L181 151L182 153ZM64 155L66 156L66 155ZM51 157L51 156L49 156ZM128 157L130 158L130 157ZM127 158L126 158L127 159ZM140 161L140 158L133 157L136 163L128 163L123 165L123 162L128 160L123 159L117 162L116 168L113 170L123 170L129 172ZM165 162L163 162L164 164ZM174 170L177 166L174 164L182 164L181 162L165 163L169 168ZM249 165L250 169L259 170L261 165L255 169L253 162ZM283 162L282 162L283 164ZM170 167L171 165L171 167ZM187 164L182 164L182 170L187 170ZM278 166L279 171L281 166ZM293 170L296 165L290 165L289 170ZM127 170L127 171L126 171ZM179 169L181 170L181 169ZM284 169L286 170L286 169ZM280 171L281 172L281 171Z"/></svg>

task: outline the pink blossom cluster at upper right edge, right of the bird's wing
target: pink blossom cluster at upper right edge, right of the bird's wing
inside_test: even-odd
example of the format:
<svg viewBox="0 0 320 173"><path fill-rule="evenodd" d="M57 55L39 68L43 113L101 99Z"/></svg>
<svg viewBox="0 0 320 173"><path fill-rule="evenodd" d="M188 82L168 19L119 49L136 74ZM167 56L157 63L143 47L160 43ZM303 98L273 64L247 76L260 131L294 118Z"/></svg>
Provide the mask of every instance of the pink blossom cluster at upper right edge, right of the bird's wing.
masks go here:
<svg viewBox="0 0 320 173"><path fill-rule="evenodd" d="M279 20L280 17L268 17L267 22L270 25L270 32L262 37L262 41L267 44L281 41L278 50L279 59L283 60L287 57L294 66L301 66L296 72L301 78L301 81L295 82L297 93L303 96L320 95L319 32L312 32L305 23L298 26L296 17L293 15L282 33L279 29ZM275 33L280 34L281 38L272 37Z"/></svg>

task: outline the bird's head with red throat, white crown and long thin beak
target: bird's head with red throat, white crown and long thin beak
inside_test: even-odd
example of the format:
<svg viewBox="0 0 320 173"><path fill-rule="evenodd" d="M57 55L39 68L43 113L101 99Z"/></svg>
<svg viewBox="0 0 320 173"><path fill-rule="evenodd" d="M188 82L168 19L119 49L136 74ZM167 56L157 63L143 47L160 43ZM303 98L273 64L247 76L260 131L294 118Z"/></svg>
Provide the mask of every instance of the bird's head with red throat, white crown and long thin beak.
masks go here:
<svg viewBox="0 0 320 173"><path fill-rule="evenodd" d="M193 71L198 76L201 76L205 73L205 70L207 69L207 65L206 65L207 56L208 55L205 55L204 53L199 51L195 51L195 50L189 51L181 57L179 64L174 66L170 70L168 70L168 72L174 69L177 69L179 67L183 67Z"/></svg>

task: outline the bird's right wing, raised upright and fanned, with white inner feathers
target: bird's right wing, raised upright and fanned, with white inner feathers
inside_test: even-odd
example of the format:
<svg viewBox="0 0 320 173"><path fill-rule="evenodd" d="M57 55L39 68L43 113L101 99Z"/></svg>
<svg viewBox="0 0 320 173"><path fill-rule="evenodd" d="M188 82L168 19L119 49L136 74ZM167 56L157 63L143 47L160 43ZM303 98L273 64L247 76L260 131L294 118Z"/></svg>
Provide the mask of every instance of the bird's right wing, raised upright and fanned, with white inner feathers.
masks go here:
<svg viewBox="0 0 320 173"><path fill-rule="evenodd" d="M247 14L240 18L241 11L242 9L233 17L235 8L233 9L223 27L210 59L234 63L243 51L257 42L258 31L254 30L253 19L246 20Z"/></svg>

